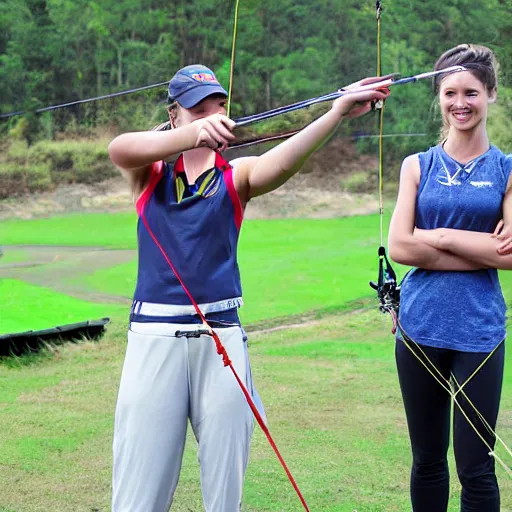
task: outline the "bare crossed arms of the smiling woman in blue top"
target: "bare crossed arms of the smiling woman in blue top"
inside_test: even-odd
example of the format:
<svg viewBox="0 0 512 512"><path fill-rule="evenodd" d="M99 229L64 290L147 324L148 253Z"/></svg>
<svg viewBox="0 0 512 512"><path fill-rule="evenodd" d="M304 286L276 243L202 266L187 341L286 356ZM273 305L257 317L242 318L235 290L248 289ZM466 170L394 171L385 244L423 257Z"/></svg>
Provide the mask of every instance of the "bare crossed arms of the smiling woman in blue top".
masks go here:
<svg viewBox="0 0 512 512"><path fill-rule="evenodd" d="M394 261L427 270L512 269L512 254L503 250L509 240L496 232L417 229L415 209L419 180L418 156L411 155L402 165L400 190L389 230L389 254ZM510 186L503 203L505 214L512 209L509 190Z"/></svg>

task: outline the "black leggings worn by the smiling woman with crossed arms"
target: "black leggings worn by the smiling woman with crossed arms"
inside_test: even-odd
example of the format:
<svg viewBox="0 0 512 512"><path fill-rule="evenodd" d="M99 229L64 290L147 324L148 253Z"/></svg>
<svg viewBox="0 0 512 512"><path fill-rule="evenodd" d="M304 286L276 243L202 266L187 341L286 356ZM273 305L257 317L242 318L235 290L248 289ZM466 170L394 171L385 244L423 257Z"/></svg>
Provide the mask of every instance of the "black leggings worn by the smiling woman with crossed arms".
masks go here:
<svg viewBox="0 0 512 512"><path fill-rule="evenodd" d="M450 379L453 373L459 384L464 383L488 356L423 345L421 349L445 378ZM417 348L414 350L419 353ZM420 357L424 359L422 354ZM493 430L498 417L504 359L505 345L502 343L463 388ZM450 485L446 454L450 438L451 397L401 340L396 343L396 363L413 455L413 511L446 512ZM461 393L457 400L487 443L494 447L494 436L489 434ZM453 448L462 485L461 512L499 512L500 493L494 458L455 404Z"/></svg>

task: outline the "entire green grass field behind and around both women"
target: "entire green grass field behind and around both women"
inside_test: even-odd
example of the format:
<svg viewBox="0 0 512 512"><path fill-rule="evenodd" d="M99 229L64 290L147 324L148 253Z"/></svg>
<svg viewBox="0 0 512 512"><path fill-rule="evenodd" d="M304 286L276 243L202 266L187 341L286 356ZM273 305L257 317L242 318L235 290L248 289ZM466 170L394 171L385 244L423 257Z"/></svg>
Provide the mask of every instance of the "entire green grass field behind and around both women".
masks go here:
<svg viewBox="0 0 512 512"><path fill-rule="evenodd" d="M410 510L409 442L390 322L373 301L368 302L368 280L377 271L377 235L375 216L249 221L242 232L240 264L246 301L242 311L245 324L253 331L253 372L271 432L311 510ZM92 215L2 224L6 245L55 240L63 245L74 240L75 245L133 248L134 218ZM8 251L4 258L7 255ZM23 258L19 251L15 261ZM74 279L92 289L129 296L134 269L134 263L128 263L96 274L84 272ZM509 274L502 276L508 300L512 298ZM9 311L23 311L19 319L23 325L35 320L45 307L63 315L70 310L94 315L96 310L86 308L99 308L100 316L112 318L99 343L49 347L36 357L1 362L0 512L110 510L113 411L127 308L76 304L51 288L5 279L0 281L0 296L10 297ZM299 328L256 330L299 320L308 321ZM498 426L509 444L510 363L507 356ZM503 450L498 453L512 463ZM452 457L450 463L454 473ZM512 482L504 471L497 472L502 510L510 512ZM451 490L449 510L455 512L459 510L459 485L453 476ZM242 509L301 510L258 430ZM187 442L172 510L202 510L193 438Z"/></svg>

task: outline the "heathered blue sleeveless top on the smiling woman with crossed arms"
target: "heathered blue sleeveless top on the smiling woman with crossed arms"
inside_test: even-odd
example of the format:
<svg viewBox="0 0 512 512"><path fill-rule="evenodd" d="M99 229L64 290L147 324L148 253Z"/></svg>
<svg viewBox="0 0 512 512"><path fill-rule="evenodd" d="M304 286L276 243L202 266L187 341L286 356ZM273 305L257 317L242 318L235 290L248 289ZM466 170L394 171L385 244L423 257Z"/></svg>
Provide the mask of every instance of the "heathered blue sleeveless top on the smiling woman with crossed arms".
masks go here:
<svg viewBox="0 0 512 512"><path fill-rule="evenodd" d="M465 165L441 145L419 154L416 201L420 229L492 233L512 155L491 148ZM496 269L448 272L414 268L400 293L400 321L417 343L463 352L489 352L505 338L506 306Z"/></svg>

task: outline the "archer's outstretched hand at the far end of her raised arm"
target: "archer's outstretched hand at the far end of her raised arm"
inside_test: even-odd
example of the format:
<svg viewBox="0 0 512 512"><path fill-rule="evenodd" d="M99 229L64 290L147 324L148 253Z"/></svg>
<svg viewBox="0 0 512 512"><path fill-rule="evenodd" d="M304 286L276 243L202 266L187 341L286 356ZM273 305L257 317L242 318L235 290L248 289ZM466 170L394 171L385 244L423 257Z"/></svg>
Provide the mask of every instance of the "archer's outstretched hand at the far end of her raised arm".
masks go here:
<svg viewBox="0 0 512 512"><path fill-rule="evenodd" d="M337 111L341 117L349 119L366 114L372 110L372 103L384 101L389 96L388 87L392 76L363 78L344 87L343 91L353 92L336 99L332 106L333 110ZM359 90L361 87L364 87L364 90Z"/></svg>

